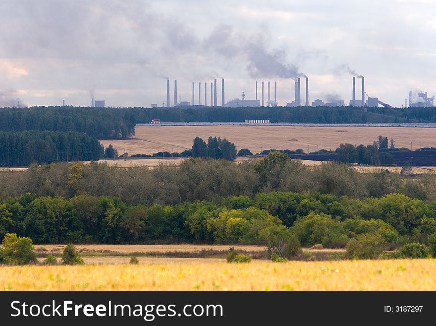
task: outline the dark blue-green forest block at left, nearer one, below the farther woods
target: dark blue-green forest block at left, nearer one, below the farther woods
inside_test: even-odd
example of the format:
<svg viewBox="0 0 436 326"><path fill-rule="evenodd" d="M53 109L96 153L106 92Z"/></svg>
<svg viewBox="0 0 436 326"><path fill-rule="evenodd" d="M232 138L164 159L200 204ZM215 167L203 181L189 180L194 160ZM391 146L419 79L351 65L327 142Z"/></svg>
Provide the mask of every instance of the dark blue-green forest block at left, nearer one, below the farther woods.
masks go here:
<svg viewBox="0 0 436 326"><path fill-rule="evenodd" d="M0 166L98 160L102 154L95 137L75 131L0 131Z"/></svg>

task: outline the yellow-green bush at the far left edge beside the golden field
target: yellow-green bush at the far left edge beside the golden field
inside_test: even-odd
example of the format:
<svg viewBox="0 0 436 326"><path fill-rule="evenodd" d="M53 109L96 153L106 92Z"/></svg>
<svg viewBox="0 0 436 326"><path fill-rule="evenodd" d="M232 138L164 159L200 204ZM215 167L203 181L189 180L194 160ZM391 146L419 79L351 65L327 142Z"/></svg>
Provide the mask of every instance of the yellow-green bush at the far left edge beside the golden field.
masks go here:
<svg viewBox="0 0 436 326"><path fill-rule="evenodd" d="M36 262L35 248L32 239L19 237L16 233L6 233L0 248L0 262L3 261L13 265L24 265Z"/></svg>

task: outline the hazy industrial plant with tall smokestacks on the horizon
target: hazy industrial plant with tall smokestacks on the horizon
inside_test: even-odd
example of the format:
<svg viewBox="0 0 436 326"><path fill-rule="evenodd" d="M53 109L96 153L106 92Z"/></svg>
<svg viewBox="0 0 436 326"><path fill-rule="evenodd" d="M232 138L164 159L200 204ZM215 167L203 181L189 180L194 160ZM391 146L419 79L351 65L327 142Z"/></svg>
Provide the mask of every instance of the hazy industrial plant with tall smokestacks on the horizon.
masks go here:
<svg viewBox="0 0 436 326"><path fill-rule="evenodd" d="M326 102L323 99L317 98L312 103L309 102L309 77L301 74L302 77L294 78L294 90L295 95L294 99L291 102L286 102L287 107L317 107L317 106L327 106L327 107L340 107L345 106L345 101L341 99L330 99ZM302 78L305 79L305 99L302 101L301 99L301 83ZM360 99L356 98L356 78L361 79L361 96ZM304 84L303 79L303 84ZM217 93L217 79L214 79L211 82L210 95L208 95L208 82L204 82L204 87L202 89L202 82L198 82L196 87L196 82L192 82L192 97L191 102L182 101L181 98L177 97L177 79L174 80L174 107L188 107L188 106L211 106L211 107L276 107L277 106L277 82L274 81L274 89L273 89L273 99L271 94L271 81L262 81L261 82L261 96L258 97L258 86L259 82L255 81L255 98L254 99L246 99L245 92L242 92L241 98L235 98L225 102L225 88L224 88L224 78L221 78L221 102L218 104L218 93ZM195 92L198 92L198 96L196 96ZM203 93L202 93L203 92ZM204 95L204 96L203 96ZM209 96L209 97L208 97ZM204 101L202 101L204 99ZM409 99L405 99L404 108L407 107L433 107L434 106L435 96L429 97L427 92L420 91L418 94L413 94L409 92ZM210 101L209 101L210 100ZM104 101L96 101L96 103ZM208 102L210 105L208 105ZM348 103L349 106L353 107L378 107L379 105L384 108L392 108L391 105L381 101L378 97L371 97L365 92L365 77L361 75L353 76L352 78L352 91L351 91L351 100ZM94 106L94 100L93 100ZM97 106L97 104L96 104ZM163 103L162 106L165 106ZM166 107L170 107L170 81L166 80ZM151 107L157 107L156 104L152 104Z"/></svg>

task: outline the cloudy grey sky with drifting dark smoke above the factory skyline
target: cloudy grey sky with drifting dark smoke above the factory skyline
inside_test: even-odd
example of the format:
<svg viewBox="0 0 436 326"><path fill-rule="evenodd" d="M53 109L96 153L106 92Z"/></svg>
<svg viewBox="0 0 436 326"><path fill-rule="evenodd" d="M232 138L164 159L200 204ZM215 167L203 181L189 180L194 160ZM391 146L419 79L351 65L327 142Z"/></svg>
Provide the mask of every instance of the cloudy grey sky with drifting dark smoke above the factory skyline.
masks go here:
<svg viewBox="0 0 436 326"><path fill-rule="evenodd" d="M0 107L191 101L195 82L225 79L225 100L277 82L278 105L308 76L310 102L365 90L404 105L436 94L434 0L1 0ZM304 85L302 79L302 99ZM360 79L356 97L360 99ZM265 94L267 98L267 93Z"/></svg>

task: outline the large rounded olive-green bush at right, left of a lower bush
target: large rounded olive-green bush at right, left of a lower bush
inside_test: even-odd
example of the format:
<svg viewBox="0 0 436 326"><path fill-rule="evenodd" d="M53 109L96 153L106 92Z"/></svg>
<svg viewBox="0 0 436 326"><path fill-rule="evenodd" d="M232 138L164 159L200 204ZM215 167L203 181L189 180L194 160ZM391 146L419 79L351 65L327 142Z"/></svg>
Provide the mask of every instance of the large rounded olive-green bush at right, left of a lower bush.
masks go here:
<svg viewBox="0 0 436 326"><path fill-rule="evenodd" d="M360 234L348 242L347 256L351 259L377 259L382 254L385 243L380 234Z"/></svg>

